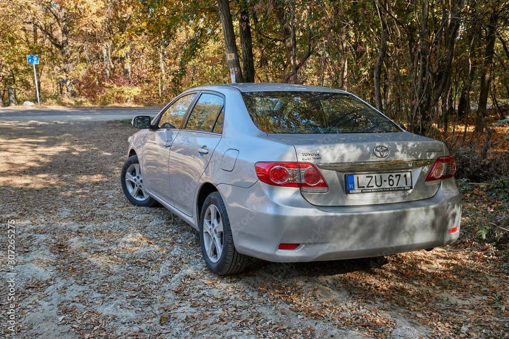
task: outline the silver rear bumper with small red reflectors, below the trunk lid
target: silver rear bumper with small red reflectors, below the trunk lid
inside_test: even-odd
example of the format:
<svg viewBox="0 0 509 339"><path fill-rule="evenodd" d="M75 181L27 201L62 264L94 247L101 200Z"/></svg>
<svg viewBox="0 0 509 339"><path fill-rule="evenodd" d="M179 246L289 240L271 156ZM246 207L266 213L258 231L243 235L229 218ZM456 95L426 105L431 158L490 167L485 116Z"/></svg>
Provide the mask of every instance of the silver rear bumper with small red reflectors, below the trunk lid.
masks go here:
<svg viewBox="0 0 509 339"><path fill-rule="evenodd" d="M443 246L459 236L461 198L453 178L443 180L429 199L347 207L314 206L298 189L260 181L249 189L225 184L218 189L237 251L268 261L391 255ZM278 250L280 243L299 246Z"/></svg>

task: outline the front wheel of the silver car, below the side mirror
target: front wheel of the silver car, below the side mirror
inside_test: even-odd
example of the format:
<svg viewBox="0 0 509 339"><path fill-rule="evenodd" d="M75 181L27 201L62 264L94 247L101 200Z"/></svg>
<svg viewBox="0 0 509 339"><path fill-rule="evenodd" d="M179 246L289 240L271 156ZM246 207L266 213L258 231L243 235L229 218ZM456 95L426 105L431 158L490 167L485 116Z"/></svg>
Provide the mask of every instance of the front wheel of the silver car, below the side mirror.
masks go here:
<svg viewBox="0 0 509 339"><path fill-rule="evenodd" d="M158 203L149 197L143 186L142 171L139 168L138 156L129 157L122 166L120 174L122 191L129 202L136 206L152 207Z"/></svg>

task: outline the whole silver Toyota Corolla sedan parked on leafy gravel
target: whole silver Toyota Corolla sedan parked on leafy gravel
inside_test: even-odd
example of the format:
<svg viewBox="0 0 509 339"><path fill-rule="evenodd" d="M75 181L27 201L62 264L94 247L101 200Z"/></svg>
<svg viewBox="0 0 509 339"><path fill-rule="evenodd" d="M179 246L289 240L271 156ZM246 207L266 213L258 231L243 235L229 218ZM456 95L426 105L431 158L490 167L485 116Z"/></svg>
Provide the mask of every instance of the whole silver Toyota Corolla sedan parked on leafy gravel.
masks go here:
<svg viewBox="0 0 509 339"><path fill-rule="evenodd" d="M459 236L456 161L366 102L323 87L202 86L136 116L121 182L196 228L207 266L430 250Z"/></svg>

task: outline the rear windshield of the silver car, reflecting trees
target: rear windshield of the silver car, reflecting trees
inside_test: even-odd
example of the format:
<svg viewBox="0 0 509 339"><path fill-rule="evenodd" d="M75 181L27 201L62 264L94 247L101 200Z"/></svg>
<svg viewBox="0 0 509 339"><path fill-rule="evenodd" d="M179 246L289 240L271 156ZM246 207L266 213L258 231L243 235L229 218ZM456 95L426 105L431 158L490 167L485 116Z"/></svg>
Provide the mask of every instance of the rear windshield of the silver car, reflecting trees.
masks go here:
<svg viewBox="0 0 509 339"><path fill-rule="evenodd" d="M266 133L401 132L394 122L348 94L260 91L242 97L254 124Z"/></svg>

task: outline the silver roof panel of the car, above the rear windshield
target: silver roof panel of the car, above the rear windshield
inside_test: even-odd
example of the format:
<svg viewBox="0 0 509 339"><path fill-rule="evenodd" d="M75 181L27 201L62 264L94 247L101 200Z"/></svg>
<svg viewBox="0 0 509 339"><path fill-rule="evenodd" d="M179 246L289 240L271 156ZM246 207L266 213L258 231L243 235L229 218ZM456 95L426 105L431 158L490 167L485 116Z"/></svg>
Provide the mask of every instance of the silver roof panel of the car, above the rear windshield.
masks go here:
<svg viewBox="0 0 509 339"><path fill-rule="evenodd" d="M340 89L333 89L320 86L307 86L293 83L263 83L263 82L243 82L243 83L230 83L230 84L217 84L217 85L206 85L192 88L194 90L212 90L218 88L236 88L241 92L258 92L258 91L317 91L317 92L333 92L343 93L347 92Z"/></svg>

